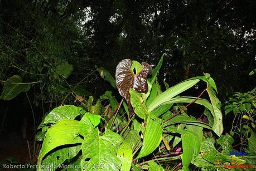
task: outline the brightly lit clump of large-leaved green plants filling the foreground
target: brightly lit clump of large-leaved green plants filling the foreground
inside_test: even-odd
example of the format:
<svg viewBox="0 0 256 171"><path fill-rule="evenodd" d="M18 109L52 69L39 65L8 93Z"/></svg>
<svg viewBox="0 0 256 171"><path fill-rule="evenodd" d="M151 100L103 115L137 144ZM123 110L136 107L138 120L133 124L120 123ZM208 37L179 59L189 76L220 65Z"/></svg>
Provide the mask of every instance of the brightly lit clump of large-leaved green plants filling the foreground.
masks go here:
<svg viewBox="0 0 256 171"><path fill-rule="evenodd" d="M162 58L156 69L161 65ZM217 89L209 74L185 80L165 91L160 89L156 75L155 70L146 94L130 89L133 115L111 91L100 97L109 101L107 105L91 104L90 96L81 101L80 107L59 106L47 114L38 127L37 139L43 140L38 170L45 170L49 164L54 170L63 163L67 168L78 165L76 170L224 170L224 165L252 164L252 147L250 155L242 158L229 154L235 151L234 140L230 135L222 135ZM200 80L206 82L202 93L207 92L210 101L200 96L180 96ZM207 118L211 123L196 120L187 113L186 108L194 102L210 112ZM183 106L184 103L188 105Z"/></svg>

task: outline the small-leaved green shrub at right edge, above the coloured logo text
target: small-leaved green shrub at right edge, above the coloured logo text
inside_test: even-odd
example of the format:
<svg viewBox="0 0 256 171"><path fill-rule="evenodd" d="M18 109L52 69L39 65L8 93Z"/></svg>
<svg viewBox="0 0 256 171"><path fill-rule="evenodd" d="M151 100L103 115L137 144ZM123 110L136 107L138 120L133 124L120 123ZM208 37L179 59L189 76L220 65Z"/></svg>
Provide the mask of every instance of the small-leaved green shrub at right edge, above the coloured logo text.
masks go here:
<svg viewBox="0 0 256 171"><path fill-rule="evenodd" d="M256 153L255 142L255 116L256 116L256 91L245 93L236 92L226 101L225 114L234 114L234 120L230 131L231 135L240 140L240 150L248 153Z"/></svg>

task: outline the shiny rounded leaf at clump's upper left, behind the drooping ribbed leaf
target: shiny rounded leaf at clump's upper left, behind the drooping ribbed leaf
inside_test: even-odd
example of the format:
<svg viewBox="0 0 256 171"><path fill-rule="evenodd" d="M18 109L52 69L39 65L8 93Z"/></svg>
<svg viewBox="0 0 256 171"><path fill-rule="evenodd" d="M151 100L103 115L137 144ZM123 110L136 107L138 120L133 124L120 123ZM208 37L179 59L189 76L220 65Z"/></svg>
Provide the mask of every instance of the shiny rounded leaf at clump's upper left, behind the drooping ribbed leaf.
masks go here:
<svg viewBox="0 0 256 171"><path fill-rule="evenodd" d="M84 113L82 108L73 105L59 106L46 115L44 124L56 124L61 119L75 119L76 116Z"/></svg>

